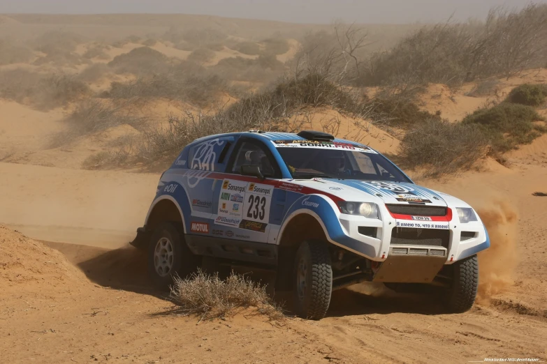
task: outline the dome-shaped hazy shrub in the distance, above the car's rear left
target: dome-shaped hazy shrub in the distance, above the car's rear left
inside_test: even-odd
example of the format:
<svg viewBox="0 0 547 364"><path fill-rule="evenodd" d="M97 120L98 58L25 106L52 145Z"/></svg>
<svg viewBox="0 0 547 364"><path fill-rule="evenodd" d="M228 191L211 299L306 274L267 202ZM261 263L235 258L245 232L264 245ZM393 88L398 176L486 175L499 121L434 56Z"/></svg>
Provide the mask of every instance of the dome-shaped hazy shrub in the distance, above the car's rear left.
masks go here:
<svg viewBox="0 0 547 364"><path fill-rule="evenodd" d="M117 73L133 73L134 75L150 75L166 73L170 69L170 59L149 47L138 47L126 54L115 56L108 63Z"/></svg>

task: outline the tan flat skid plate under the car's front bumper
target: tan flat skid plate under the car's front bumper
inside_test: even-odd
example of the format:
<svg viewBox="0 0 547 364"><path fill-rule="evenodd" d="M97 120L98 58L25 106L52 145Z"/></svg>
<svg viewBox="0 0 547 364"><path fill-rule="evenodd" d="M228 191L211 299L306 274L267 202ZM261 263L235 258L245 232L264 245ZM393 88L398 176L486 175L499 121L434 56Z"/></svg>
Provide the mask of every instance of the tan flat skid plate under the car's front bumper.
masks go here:
<svg viewBox="0 0 547 364"><path fill-rule="evenodd" d="M390 255L372 282L430 283L445 262L446 257Z"/></svg>

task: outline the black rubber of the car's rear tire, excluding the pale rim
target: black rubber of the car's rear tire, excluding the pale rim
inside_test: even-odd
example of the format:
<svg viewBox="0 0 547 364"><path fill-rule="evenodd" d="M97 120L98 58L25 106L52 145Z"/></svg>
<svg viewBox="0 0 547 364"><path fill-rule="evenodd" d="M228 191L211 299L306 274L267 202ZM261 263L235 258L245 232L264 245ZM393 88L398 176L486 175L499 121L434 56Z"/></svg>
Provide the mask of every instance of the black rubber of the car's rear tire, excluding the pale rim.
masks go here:
<svg viewBox="0 0 547 364"><path fill-rule="evenodd" d="M159 241L167 239L172 248L171 268L166 275L160 275L154 263L154 252ZM158 289L168 289L173 284L173 277L187 278L200 266L200 257L194 255L184 241L184 228L178 222L162 222L154 232L148 245L148 275Z"/></svg>

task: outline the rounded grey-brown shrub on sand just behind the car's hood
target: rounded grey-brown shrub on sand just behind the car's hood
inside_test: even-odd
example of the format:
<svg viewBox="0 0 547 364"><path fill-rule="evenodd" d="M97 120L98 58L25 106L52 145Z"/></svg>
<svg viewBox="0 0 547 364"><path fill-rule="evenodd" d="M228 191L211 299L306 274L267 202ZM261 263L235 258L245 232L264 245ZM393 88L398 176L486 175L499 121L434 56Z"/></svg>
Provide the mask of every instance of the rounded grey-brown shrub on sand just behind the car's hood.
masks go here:
<svg viewBox="0 0 547 364"><path fill-rule="evenodd" d="M424 167L424 176L451 174L486 156L487 142L477 126L430 119L407 132L396 159L404 167Z"/></svg>

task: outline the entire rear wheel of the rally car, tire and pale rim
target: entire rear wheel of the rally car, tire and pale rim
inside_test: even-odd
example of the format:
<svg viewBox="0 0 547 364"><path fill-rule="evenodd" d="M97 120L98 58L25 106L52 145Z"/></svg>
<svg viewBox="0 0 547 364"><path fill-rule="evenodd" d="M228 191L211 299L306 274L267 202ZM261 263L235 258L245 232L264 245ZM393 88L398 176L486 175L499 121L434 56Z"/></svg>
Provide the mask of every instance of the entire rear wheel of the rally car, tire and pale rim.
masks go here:
<svg viewBox="0 0 547 364"><path fill-rule="evenodd" d="M173 277L196 272L199 259L184 242L184 229L176 222L163 222L152 234L148 247L148 274L154 285L166 289Z"/></svg>

